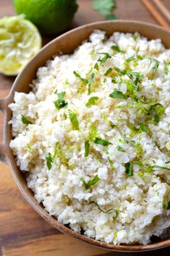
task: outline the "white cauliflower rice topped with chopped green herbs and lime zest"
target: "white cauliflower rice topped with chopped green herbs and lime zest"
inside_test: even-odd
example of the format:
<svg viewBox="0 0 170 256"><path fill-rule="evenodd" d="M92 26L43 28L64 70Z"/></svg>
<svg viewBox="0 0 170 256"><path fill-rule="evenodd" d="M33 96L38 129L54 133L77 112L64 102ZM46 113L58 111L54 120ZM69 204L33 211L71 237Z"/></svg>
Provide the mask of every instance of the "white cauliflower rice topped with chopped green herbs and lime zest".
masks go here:
<svg viewBox="0 0 170 256"><path fill-rule="evenodd" d="M15 93L10 142L37 202L76 232L147 244L170 226L170 50L95 30Z"/></svg>

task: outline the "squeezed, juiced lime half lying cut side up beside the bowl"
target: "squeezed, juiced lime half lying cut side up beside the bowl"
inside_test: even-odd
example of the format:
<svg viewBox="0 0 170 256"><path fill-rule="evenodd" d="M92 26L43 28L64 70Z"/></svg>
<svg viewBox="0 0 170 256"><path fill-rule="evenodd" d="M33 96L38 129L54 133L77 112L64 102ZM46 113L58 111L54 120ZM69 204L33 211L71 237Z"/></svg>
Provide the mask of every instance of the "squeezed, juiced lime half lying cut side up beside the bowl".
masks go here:
<svg viewBox="0 0 170 256"><path fill-rule="evenodd" d="M17 75L42 46L37 27L22 15L0 19L0 72Z"/></svg>

